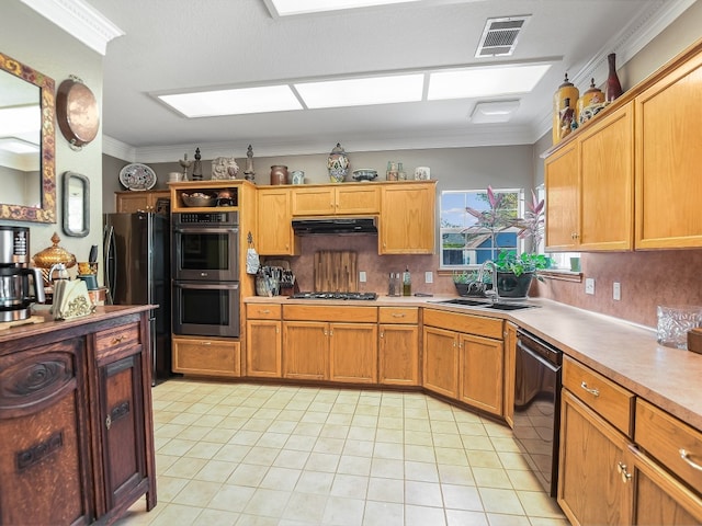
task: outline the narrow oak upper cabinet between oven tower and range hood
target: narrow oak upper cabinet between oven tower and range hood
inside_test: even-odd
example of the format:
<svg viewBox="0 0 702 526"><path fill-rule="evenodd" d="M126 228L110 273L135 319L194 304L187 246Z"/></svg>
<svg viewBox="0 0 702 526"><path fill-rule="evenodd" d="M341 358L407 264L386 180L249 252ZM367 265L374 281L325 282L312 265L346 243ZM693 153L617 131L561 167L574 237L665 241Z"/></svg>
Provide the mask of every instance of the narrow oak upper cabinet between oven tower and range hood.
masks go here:
<svg viewBox="0 0 702 526"><path fill-rule="evenodd" d="M258 191L258 236L256 250L261 255L295 255L299 253L293 235L291 190L271 186Z"/></svg>

